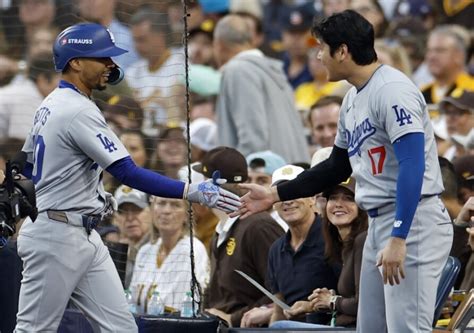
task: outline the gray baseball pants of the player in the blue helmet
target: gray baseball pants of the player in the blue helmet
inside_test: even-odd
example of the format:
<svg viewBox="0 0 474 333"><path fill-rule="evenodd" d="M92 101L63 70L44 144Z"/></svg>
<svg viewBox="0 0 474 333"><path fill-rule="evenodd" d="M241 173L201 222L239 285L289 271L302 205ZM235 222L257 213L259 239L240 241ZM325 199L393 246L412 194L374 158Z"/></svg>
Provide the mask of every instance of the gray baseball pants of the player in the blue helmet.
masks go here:
<svg viewBox="0 0 474 333"><path fill-rule="evenodd" d="M18 254L23 279L15 332L56 332L69 300L95 332L138 331L109 251L95 230L88 237L83 227L41 213L21 227Z"/></svg>

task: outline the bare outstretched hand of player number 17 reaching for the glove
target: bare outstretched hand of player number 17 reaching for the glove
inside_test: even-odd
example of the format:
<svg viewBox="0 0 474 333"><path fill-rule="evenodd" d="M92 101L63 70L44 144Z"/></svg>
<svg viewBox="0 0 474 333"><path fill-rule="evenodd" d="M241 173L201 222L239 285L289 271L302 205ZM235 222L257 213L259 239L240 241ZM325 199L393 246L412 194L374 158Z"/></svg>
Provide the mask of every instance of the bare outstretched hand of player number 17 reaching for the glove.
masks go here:
<svg viewBox="0 0 474 333"><path fill-rule="evenodd" d="M274 202L278 201L267 187L257 184L239 184L239 187L248 192L240 198L242 206L230 214L230 217L240 215L240 218L244 219L252 214L268 210Z"/></svg>

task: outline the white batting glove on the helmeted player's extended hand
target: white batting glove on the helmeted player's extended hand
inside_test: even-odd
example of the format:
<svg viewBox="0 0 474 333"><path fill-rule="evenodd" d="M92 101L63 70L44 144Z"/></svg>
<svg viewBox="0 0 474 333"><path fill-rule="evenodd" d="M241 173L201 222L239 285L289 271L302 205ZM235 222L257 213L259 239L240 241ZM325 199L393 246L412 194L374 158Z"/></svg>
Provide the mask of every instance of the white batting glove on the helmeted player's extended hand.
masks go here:
<svg viewBox="0 0 474 333"><path fill-rule="evenodd" d="M226 180L219 178L219 172L214 172L213 179L201 183L188 184L184 199L201 205L218 208L226 213L235 212L240 207L240 197L229 192L219 185L225 184Z"/></svg>

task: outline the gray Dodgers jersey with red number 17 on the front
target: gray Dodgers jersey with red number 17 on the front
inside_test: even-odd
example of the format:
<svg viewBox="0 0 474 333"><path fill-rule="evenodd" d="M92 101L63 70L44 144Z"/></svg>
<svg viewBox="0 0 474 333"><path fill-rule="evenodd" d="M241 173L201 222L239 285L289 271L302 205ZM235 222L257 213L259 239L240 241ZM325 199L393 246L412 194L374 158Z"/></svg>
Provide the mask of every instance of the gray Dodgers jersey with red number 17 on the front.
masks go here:
<svg viewBox="0 0 474 333"><path fill-rule="evenodd" d="M436 143L419 89L400 71L382 65L362 89L348 91L335 145L349 153L359 207L368 210L395 202L398 161L393 143L416 132L425 136L421 194L439 194L444 188Z"/></svg>

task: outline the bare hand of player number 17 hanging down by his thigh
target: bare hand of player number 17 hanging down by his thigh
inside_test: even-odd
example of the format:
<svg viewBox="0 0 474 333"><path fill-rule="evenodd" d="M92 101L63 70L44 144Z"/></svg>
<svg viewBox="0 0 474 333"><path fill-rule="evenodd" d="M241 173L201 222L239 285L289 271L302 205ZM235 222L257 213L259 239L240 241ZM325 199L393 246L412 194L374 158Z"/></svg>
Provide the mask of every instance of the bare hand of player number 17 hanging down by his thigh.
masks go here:
<svg viewBox="0 0 474 333"><path fill-rule="evenodd" d="M382 266L383 283L400 284L400 278L405 278L405 257L407 247L405 240L397 237L390 237L387 245L382 250L377 261L377 267Z"/></svg>

